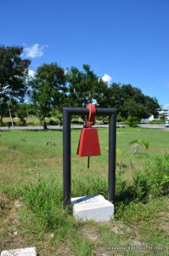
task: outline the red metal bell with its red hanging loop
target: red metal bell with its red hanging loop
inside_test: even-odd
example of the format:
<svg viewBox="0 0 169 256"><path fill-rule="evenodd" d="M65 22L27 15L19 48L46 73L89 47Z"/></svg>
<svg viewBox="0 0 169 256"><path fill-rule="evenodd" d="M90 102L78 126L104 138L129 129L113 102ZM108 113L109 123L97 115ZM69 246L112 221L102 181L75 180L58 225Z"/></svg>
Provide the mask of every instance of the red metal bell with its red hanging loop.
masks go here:
<svg viewBox="0 0 169 256"><path fill-rule="evenodd" d="M92 123L90 123L94 123L96 108L93 104L87 105L87 108L89 108L89 115L87 116L88 128L83 128L81 131L77 154L80 156L100 155L98 131L93 129Z"/></svg>

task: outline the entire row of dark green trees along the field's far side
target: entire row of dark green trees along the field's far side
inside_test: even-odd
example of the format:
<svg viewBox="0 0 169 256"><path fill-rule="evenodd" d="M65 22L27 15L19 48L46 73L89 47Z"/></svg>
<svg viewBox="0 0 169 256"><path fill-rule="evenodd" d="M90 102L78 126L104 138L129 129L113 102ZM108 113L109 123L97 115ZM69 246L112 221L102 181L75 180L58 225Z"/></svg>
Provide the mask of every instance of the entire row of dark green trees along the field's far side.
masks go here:
<svg viewBox="0 0 169 256"><path fill-rule="evenodd" d="M63 107L85 108L93 102L99 108L116 108L121 119L128 116L146 119L151 114L158 115L160 105L156 98L145 96L131 84L113 83L108 86L87 64L83 64L82 71L70 67L66 72L56 62L43 64L37 67L36 75L28 82L26 78L31 61L22 59L22 53L22 47L0 46L0 121L8 115L7 102L10 102L10 108L16 102L23 102L28 88L33 113L36 109L44 128L45 117L52 111L61 112ZM20 106L17 114L20 120L24 119L24 105Z"/></svg>

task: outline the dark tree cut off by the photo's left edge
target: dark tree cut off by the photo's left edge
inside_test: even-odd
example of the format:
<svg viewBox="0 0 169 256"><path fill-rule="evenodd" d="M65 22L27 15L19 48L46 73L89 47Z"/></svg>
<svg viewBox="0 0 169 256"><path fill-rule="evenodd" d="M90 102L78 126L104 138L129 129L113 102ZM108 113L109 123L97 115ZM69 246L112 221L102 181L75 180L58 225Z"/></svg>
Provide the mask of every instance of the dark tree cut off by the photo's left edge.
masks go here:
<svg viewBox="0 0 169 256"><path fill-rule="evenodd" d="M25 79L31 61L22 59L22 52L22 47L0 46L0 115L2 118L8 108L7 102L22 101L27 90Z"/></svg>

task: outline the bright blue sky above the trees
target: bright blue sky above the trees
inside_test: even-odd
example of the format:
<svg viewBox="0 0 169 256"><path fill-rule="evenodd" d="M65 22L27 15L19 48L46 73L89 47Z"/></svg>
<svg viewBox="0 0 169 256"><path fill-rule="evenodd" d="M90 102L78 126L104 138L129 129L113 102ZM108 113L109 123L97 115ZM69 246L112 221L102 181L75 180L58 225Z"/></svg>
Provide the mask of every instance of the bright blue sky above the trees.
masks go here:
<svg viewBox="0 0 169 256"><path fill-rule="evenodd" d="M0 44L24 47L33 71L89 64L169 108L169 0L2 0Z"/></svg>

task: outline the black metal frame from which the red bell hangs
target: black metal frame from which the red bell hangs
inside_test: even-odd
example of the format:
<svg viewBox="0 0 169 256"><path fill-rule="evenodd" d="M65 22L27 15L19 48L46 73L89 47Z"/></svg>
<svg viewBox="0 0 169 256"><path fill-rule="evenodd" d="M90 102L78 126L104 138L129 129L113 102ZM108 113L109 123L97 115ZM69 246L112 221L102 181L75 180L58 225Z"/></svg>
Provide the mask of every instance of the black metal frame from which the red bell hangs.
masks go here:
<svg viewBox="0 0 169 256"><path fill-rule="evenodd" d="M64 207L71 204L71 159L70 159L70 116L88 115L88 108L63 108L63 175ZM115 146L116 146L116 109L96 108L96 115L109 116L109 175L108 200L115 205Z"/></svg>

